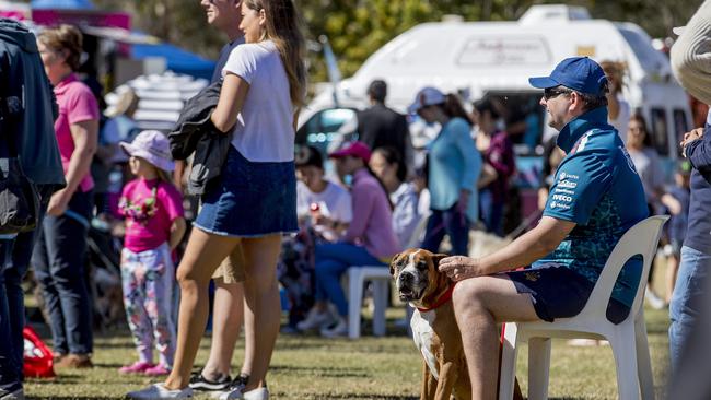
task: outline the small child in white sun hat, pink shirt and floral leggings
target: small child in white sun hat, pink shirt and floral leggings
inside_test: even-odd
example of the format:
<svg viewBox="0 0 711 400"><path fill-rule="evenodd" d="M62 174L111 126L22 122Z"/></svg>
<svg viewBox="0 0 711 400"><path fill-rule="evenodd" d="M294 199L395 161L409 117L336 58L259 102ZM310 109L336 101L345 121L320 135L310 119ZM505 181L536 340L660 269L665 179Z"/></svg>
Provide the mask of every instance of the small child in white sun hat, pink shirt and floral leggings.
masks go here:
<svg viewBox="0 0 711 400"><path fill-rule="evenodd" d="M167 375L175 352L173 320L173 250L185 233L183 199L171 184L174 169L167 139L147 130L132 143L120 143L131 156L137 178L121 193L119 212L126 217L121 251L124 305L139 360L119 369L123 374ZM153 338L159 364L153 364Z"/></svg>

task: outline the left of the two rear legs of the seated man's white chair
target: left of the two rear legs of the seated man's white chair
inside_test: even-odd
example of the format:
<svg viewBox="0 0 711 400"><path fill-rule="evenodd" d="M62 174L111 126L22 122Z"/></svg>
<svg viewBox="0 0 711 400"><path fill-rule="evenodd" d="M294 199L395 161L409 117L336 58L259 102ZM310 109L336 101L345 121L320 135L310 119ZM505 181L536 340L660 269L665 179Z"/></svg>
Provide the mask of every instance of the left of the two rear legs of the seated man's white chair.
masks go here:
<svg viewBox="0 0 711 400"><path fill-rule="evenodd" d="M638 400L640 385L637 378L637 349L633 327L620 329L607 339L613 348L617 366L617 392L620 400ZM645 399L646 400L646 399Z"/></svg>

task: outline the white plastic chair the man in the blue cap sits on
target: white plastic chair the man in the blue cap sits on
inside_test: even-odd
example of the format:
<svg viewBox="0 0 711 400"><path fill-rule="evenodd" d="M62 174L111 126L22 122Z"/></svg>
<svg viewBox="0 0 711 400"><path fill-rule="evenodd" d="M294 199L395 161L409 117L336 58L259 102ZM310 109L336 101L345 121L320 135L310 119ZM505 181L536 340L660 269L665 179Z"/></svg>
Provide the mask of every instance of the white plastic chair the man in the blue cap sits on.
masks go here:
<svg viewBox="0 0 711 400"><path fill-rule="evenodd" d="M641 391L642 399L654 399L654 381L642 302L650 266L662 234L662 225L667 220L667 215L651 216L625 233L607 259L587 304L575 317L560 318L555 322L506 323L501 357L500 400L513 398L517 344L526 341L528 342L528 399L548 398L550 338L608 340L617 366L618 398L639 399ZM606 317L607 303L622 266L634 255L641 255L644 259L634 303L627 319L619 325L614 325Z"/></svg>

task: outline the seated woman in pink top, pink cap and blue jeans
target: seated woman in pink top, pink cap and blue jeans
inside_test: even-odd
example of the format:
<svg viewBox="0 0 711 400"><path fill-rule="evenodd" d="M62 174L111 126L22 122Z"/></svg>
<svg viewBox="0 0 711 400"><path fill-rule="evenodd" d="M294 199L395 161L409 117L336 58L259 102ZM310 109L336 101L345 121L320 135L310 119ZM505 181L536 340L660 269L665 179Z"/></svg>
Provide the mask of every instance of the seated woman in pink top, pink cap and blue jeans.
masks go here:
<svg viewBox="0 0 711 400"><path fill-rule="evenodd" d="M371 151L362 142L353 142L330 154L341 177L353 178L351 199L353 219L340 243L316 246L316 304L306 319L298 323L300 330L322 328L327 338L348 333L348 303L340 278L349 267L383 266L399 251L393 232L393 205L383 184L368 167ZM328 313L327 301L338 309L337 323Z"/></svg>

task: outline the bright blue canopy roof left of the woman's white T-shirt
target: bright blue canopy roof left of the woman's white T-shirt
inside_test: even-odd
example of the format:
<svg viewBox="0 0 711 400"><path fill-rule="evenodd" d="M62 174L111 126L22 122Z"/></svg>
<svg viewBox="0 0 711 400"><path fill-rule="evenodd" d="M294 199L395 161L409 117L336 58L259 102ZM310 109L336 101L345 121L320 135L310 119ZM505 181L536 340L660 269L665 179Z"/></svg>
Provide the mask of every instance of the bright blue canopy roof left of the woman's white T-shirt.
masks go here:
<svg viewBox="0 0 711 400"><path fill-rule="evenodd" d="M137 60L162 57L165 58L168 70L208 80L212 77L214 69L214 61L165 43L158 45L135 44L131 46L131 57Z"/></svg>

